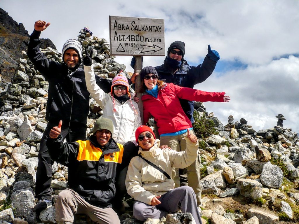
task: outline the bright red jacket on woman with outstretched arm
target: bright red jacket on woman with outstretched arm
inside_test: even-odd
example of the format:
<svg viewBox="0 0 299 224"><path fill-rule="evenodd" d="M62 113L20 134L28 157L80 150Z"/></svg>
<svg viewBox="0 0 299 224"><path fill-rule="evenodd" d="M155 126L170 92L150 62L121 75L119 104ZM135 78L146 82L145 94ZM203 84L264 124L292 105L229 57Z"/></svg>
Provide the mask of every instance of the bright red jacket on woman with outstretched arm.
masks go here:
<svg viewBox="0 0 299 224"><path fill-rule="evenodd" d="M225 92L205 92L167 83L159 90L158 98L148 93L144 93L141 97L143 101L144 124L152 115L157 122L160 135L191 128L190 119L184 113L179 99L200 102L223 102L224 94Z"/></svg>

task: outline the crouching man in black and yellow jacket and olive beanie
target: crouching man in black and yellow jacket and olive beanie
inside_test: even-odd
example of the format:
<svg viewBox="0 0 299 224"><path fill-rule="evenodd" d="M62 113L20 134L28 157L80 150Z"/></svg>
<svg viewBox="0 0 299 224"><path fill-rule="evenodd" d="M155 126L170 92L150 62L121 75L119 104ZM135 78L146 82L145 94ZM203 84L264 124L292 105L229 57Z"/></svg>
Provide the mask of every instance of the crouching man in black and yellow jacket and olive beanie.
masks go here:
<svg viewBox="0 0 299 224"><path fill-rule="evenodd" d="M62 124L60 121L51 129L46 142L51 158L68 167L70 188L58 195L56 222L73 223L74 214L83 213L96 223L120 223L112 209L116 172L136 154L135 144L116 143L112 138L113 124L108 118L96 120L90 141L63 143Z"/></svg>

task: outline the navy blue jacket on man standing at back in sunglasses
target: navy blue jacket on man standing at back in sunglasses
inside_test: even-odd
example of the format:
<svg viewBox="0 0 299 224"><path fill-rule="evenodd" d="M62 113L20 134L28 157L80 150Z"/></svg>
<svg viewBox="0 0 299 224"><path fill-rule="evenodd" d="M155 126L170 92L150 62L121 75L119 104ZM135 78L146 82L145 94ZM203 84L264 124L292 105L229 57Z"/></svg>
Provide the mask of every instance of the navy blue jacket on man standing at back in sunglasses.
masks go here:
<svg viewBox="0 0 299 224"><path fill-rule="evenodd" d="M164 64L155 67L155 69L158 72L159 80L181 87L193 88L194 85L205 81L212 74L215 66L216 62L206 56L202 64L198 66L190 66L187 61L183 59L181 66L176 70L167 66L165 59ZM180 99L180 102L187 117L191 123L194 123L194 102L184 99Z"/></svg>

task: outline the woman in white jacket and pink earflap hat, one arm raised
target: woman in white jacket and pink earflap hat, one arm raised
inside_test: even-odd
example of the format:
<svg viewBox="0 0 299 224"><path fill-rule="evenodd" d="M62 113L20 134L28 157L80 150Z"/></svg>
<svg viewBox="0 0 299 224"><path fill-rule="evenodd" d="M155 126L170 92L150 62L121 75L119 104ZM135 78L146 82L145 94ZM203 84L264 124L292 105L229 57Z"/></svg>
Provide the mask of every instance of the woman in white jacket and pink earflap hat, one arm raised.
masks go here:
<svg viewBox="0 0 299 224"><path fill-rule="evenodd" d="M92 54L92 52L91 52ZM83 59L85 82L87 90L103 110L103 117L113 122L113 139L124 144L128 141L135 142L135 131L141 125L138 104L133 101L129 93L128 79L120 71L112 81L111 92L105 93L96 83L91 54Z"/></svg>

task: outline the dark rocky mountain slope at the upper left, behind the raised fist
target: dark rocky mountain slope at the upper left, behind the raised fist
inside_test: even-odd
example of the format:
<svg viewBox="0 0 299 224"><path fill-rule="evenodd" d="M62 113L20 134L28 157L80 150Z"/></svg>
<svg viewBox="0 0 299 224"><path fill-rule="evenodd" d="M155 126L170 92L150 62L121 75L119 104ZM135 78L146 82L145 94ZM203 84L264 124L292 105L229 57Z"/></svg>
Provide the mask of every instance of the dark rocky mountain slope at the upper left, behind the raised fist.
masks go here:
<svg viewBox="0 0 299 224"><path fill-rule="evenodd" d="M26 50L29 41L28 31L22 23L18 24L7 12L0 8L0 74L9 81L15 73L22 50ZM42 48L55 45L50 39L42 39Z"/></svg>

